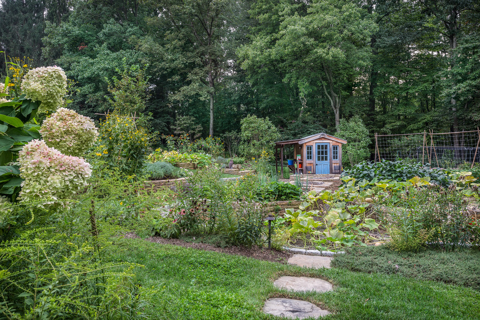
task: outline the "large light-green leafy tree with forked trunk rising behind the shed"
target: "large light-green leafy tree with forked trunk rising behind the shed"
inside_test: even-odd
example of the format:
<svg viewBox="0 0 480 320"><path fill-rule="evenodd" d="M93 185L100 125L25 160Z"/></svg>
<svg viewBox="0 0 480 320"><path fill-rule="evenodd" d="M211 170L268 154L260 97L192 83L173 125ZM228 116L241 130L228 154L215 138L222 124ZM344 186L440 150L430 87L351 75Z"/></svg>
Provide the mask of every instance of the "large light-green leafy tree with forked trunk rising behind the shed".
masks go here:
<svg viewBox="0 0 480 320"><path fill-rule="evenodd" d="M284 80L299 88L302 107L308 94L320 89L338 126L342 96L349 94L352 80L369 64L367 43L376 26L350 1L313 1L303 15L298 8L285 4L278 33L257 36L245 48L244 64L248 67L262 55L279 61Z"/></svg>

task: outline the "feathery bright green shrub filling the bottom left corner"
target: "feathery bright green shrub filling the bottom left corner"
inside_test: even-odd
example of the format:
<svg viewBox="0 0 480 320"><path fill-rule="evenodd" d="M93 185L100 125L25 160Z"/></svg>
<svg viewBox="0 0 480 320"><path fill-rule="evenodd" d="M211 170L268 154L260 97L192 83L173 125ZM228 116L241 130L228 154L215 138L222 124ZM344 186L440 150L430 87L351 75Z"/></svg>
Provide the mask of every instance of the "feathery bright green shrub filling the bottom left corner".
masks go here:
<svg viewBox="0 0 480 320"><path fill-rule="evenodd" d="M140 265L104 261L100 242L79 238L37 229L0 244L3 319L127 319L136 314L143 304L134 280Z"/></svg>

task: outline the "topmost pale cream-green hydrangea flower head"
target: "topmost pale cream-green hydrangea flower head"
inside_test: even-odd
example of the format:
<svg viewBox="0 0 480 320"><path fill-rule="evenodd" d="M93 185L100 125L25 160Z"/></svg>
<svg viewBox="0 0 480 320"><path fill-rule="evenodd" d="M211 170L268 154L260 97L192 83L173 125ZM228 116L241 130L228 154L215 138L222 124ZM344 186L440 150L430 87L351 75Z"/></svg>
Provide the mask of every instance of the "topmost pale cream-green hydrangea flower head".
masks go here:
<svg viewBox="0 0 480 320"><path fill-rule="evenodd" d="M27 99L42 101L38 112L51 113L60 108L67 91L64 70L57 66L39 67L30 70L22 81L22 92Z"/></svg>

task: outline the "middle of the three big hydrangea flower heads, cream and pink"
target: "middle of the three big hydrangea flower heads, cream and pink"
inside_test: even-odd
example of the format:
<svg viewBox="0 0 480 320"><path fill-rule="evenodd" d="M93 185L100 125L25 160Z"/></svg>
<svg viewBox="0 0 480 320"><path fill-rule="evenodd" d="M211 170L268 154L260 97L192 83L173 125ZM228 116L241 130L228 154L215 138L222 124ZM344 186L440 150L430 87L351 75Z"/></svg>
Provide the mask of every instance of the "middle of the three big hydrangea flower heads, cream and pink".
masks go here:
<svg viewBox="0 0 480 320"><path fill-rule="evenodd" d="M77 157L84 155L98 136L92 119L66 108L45 120L40 133L49 147Z"/></svg>

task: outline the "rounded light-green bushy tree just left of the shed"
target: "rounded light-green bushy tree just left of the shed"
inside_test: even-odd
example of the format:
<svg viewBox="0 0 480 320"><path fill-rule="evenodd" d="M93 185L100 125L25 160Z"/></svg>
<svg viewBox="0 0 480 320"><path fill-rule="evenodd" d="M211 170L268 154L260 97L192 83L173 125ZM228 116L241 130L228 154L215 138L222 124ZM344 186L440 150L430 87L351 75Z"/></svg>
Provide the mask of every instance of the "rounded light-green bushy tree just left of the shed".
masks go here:
<svg viewBox="0 0 480 320"><path fill-rule="evenodd" d="M259 158L263 151L273 154L274 142L280 138L278 129L268 117L248 115L241 120L240 151L248 158Z"/></svg>

